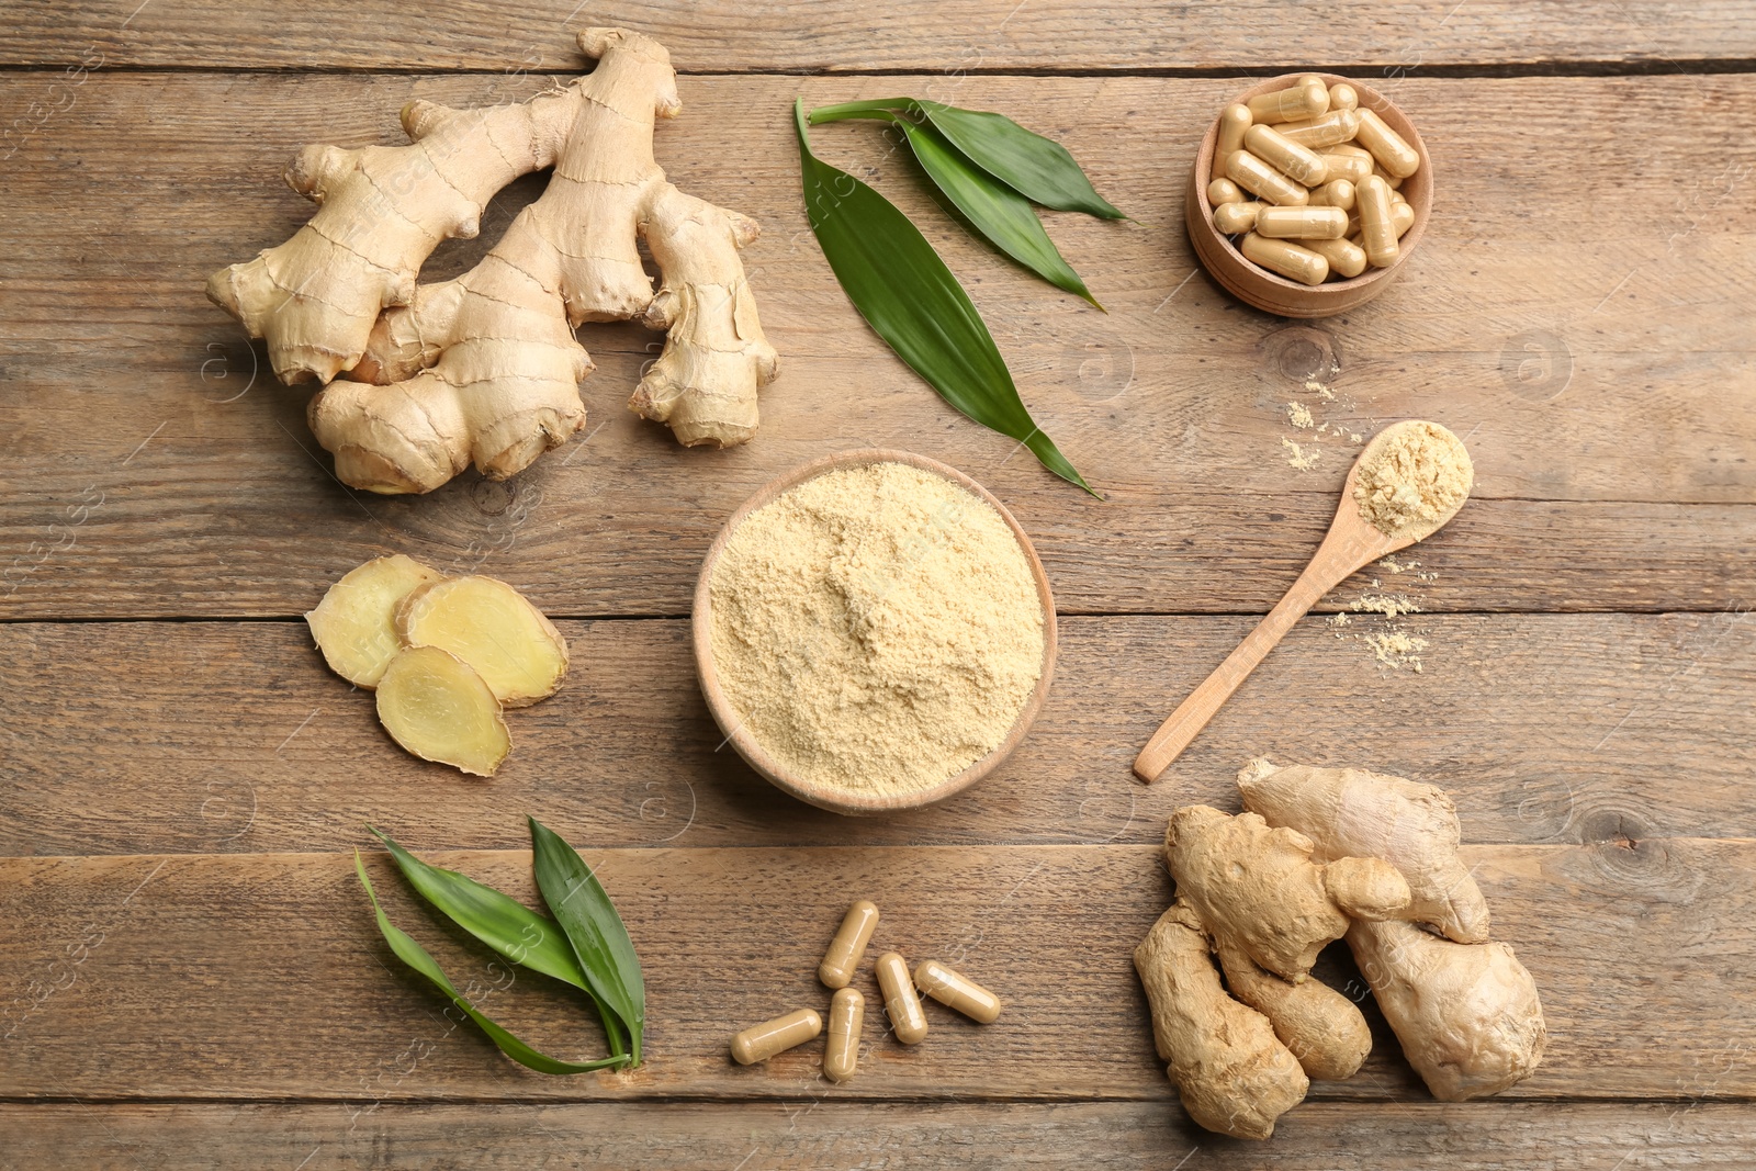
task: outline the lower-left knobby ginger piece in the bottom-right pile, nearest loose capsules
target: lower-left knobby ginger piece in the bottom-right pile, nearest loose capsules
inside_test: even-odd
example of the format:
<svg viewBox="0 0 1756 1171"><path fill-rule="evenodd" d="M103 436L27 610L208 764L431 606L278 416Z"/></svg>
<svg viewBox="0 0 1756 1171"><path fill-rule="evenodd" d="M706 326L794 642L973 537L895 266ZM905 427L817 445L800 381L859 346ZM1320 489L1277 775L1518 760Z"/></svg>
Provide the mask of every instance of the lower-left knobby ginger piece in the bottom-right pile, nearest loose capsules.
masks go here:
<svg viewBox="0 0 1756 1171"><path fill-rule="evenodd" d="M1152 1036L1189 1117L1208 1131L1264 1139L1305 1101L1310 1080L1268 1018L1226 995L1201 918L1184 902L1134 948Z"/></svg>

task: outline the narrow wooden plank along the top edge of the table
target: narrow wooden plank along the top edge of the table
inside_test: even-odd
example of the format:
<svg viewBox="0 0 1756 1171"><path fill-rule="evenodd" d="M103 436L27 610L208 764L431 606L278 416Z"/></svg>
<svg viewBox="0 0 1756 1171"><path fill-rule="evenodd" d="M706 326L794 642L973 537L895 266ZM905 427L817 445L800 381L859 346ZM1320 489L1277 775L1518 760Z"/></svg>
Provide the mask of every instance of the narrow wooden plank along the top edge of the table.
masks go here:
<svg viewBox="0 0 1756 1171"><path fill-rule="evenodd" d="M687 70L1263 68L1621 61L1686 70L1693 60L1756 58L1756 19L1731 0L1677 5L1591 0L1463 7L1338 0L1321 26L1284 5L1162 5L1122 0L911 0L874 12L853 0L811 5L658 0L571 14L557 5L467 0L416 12L390 0L320 0L270 14L221 4L104 0L67 12L19 0L5 63L77 61L88 46L112 65L183 68L348 68L497 72L555 68L571 30L613 21L651 33ZM557 47L560 46L560 47ZM1313 56L1315 54L1315 56ZM1280 70L1275 70L1280 72Z"/></svg>

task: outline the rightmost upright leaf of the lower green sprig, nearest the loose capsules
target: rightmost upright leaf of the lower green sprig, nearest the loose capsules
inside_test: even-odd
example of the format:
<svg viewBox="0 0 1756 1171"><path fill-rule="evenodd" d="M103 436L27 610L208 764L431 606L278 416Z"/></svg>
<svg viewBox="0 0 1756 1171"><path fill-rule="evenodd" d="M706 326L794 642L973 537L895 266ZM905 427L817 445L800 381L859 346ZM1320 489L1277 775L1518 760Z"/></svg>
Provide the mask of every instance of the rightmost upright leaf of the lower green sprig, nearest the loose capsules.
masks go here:
<svg viewBox="0 0 1756 1171"><path fill-rule="evenodd" d="M639 1066L641 1034L646 1029L646 981L616 904L579 851L536 818L530 818L530 862L543 901L567 932L567 943L579 957L592 990L629 1027L634 1064Z"/></svg>

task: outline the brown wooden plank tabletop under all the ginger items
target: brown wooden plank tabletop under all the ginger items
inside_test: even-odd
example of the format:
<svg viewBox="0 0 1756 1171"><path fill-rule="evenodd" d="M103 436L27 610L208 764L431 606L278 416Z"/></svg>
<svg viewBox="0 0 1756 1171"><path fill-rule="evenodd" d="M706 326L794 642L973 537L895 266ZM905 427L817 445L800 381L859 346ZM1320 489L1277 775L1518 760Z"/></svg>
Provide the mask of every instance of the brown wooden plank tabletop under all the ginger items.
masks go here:
<svg viewBox="0 0 1756 1171"><path fill-rule="evenodd" d="M1745 1167L1756 1160L1756 14L1737 0L1162 5L306 5L14 0L0 125L0 1162L16 1166ZM427 9L425 14L416 14ZM783 374L762 432L687 451L623 409L655 335L587 327L588 435L509 483L348 492L202 298L309 205L306 142L399 142L411 97L515 100L581 67L572 30L660 37L685 116L658 156L762 221L746 253ZM1182 191L1247 74L1338 67L1421 126L1438 200L1380 300L1292 323L1194 269ZM806 230L788 105L911 93L1066 140L1136 219L1050 216L1110 313L969 244L871 126L824 126L962 276L1036 418L1108 502L941 406L855 316ZM502 195L472 263L541 190ZM1313 414L1294 427L1289 404ZM1173 772L1157 722L1313 550L1357 435L1465 435L1477 488L1357 576ZM1287 444L1315 458L1299 471ZM843 820L718 751L690 586L757 485L904 446L992 488L1062 607L1017 757L931 811ZM493 781L402 755L300 621L400 551L529 590L572 641ZM1350 613L1363 595L1419 613ZM1428 646L1377 662L1361 636ZM1155 843L1236 808L1256 755L1456 795L1496 934L1551 1045L1493 1101L1438 1104L1394 1038L1315 1085L1266 1148L1191 1125L1129 953L1166 906ZM579 844L627 916L650 1062L546 1078L453 1025L378 938L365 822L532 892L523 815ZM581 1004L504 976L393 878L392 915L488 1009L562 1053ZM727 1036L818 1004L850 897L880 946L1008 997L904 1050L869 1025L832 1087L806 1046ZM1331 978L1357 976L1345 959ZM862 980L869 976L862 974ZM1349 985L1357 990L1359 985ZM488 992L492 990L492 992Z"/></svg>

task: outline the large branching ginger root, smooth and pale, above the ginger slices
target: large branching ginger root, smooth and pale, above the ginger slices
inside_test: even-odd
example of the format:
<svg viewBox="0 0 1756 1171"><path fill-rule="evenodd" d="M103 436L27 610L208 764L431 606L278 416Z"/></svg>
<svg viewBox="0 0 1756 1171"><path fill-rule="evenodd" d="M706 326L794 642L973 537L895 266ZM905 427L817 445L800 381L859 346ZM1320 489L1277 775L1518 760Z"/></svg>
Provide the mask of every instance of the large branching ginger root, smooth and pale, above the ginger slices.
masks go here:
<svg viewBox="0 0 1756 1171"><path fill-rule="evenodd" d="M344 483L430 492L471 463L504 479L565 442L585 425L585 321L667 330L629 406L683 444L755 432L757 392L776 370L738 258L757 225L678 191L655 162L655 119L681 111L666 49L618 28L588 28L579 46L597 68L522 105L413 102L413 146L307 147L288 181L318 214L209 281L216 304L269 339L283 381L355 379L309 407ZM474 235L500 186L548 165L543 197L481 263L414 284L439 241ZM637 239L664 277L657 295Z"/></svg>

